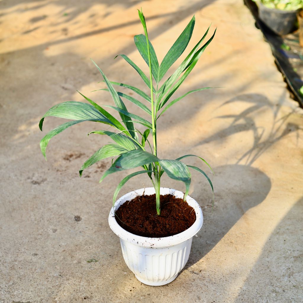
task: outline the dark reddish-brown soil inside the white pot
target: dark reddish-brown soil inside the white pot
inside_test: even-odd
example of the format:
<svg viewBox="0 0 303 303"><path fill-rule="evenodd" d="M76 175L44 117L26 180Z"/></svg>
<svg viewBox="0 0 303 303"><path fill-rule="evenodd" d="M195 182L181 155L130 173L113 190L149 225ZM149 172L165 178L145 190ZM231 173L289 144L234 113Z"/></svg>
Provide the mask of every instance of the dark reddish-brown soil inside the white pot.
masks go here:
<svg viewBox="0 0 303 303"><path fill-rule="evenodd" d="M195 210L173 195L160 197L161 215L156 211L156 195L138 196L116 211L118 224L132 234L161 238L185 231L196 220Z"/></svg>

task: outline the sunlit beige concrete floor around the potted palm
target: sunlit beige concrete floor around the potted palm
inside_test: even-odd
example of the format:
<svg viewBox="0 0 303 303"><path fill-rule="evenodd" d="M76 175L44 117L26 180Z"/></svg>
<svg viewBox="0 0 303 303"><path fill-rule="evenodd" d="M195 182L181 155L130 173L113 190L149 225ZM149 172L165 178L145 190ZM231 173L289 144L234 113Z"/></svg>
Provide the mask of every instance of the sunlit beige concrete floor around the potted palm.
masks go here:
<svg viewBox="0 0 303 303"><path fill-rule="evenodd" d="M78 177L82 163L108 141L86 136L100 125L75 125L53 138L47 162L39 149L43 135L62 122L46 118L41 133L40 117L60 102L83 101L76 89L112 104L106 92L91 92L104 86L89 58L110 80L148 92L127 63L114 60L126 54L147 72L133 43L142 33L141 7L159 59L192 15L190 46L211 22L212 30L218 27L177 95L224 87L191 94L158 120L161 158L201 155L216 174L214 212L203 208L185 269L161 287L136 280L108 227L124 174L99 185L106 160ZM289 98L241 0L3 0L0 9L1 303L302 302L303 110ZM201 166L198 160L186 162ZM207 181L192 177L191 195L210 204ZM121 195L142 181L149 186L134 178ZM184 188L168 178L162 186ZM88 263L92 258L97 262Z"/></svg>

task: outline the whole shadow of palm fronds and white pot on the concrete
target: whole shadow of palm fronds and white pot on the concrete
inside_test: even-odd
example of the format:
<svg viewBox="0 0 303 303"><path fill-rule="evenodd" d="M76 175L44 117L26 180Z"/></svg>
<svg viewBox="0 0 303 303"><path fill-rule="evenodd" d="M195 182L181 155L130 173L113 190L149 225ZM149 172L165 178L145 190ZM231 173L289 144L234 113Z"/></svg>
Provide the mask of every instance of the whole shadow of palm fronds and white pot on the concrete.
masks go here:
<svg viewBox="0 0 303 303"><path fill-rule="evenodd" d="M213 141L223 142L229 136L239 132L252 131L252 147L235 164L214 168L216 176L213 178L215 193L215 208L212 215L205 216L198 238L194 237L192 251L185 269L197 263L228 233L233 225L248 211L265 200L271 189L270 178L258 168L251 165L272 145L284 136L295 132L297 139L302 126L298 122L288 121L296 108L286 115L280 115L285 96L281 96L278 104L274 104L261 94L243 94L224 102L228 106L234 102L246 102L249 107L239 114L223 115L216 118L231 119L232 122L214 135L198 142L198 145ZM264 110L271 110L272 124L270 129L258 126L256 116ZM260 123L259 123L260 124ZM242 148L239 145L239 148ZM241 164L244 162L244 165ZM201 193L203 196L203 193ZM210 228L208 228L210 227ZM240 232L240 231L239 231Z"/></svg>

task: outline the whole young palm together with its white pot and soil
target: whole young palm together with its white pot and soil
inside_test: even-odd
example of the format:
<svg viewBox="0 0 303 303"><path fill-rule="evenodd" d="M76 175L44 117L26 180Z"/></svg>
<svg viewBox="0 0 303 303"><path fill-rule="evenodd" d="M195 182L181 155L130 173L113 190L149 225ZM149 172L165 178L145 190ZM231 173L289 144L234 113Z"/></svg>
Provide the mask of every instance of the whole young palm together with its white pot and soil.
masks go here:
<svg viewBox="0 0 303 303"><path fill-rule="evenodd" d="M150 89L150 95L145 94L142 90L132 85L109 81L94 62L107 86L107 88L102 88L101 90L108 91L115 103L115 106L107 107L117 111L120 119L107 112L104 109L105 106L100 106L81 94L89 104L74 101L63 102L50 108L45 113L39 124L41 130L44 118L48 116L66 118L72 121L66 122L49 132L42 138L40 147L42 154L46 157L46 147L53 136L74 124L84 121L99 122L115 130L92 132L108 135L115 143L102 146L85 161L79 173L81 176L84 169L108 157L117 158L112 161L112 165L102 176L100 182L109 174L131 168L141 168L127 175L118 184L113 195L113 207L108 221L110 228L120 237L126 264L135 273L138 280L148 285L165 285L173 281L185 266L191 248L192 237L200 230L203 222L201 207L188 195L191 182L191 174L188 168L204 175L211 186L212 192L213 186L204 171L196 166L185 165L181 161L184 158L195 155L184 155L173 160L158 157L156 124L158 118L176 102L188 94L207 89L191 90L171 100L171 96L189 75L205 48L214 38L215 32L203 44L208 28L175 72L160 84L168 68L181 56L187 47L194 29L195 16L193 16L159 65L155 50L148 40L144 15L142 11L138 12L145 35L136 35L134 40L138 51L149 67L149 77L126 55L120 56L138 72L143 82ZM125 87L135 92L148 106L131 95L117 92L114 86ZM149 115L150 121L129 112L122 99L137 105L138 108ZM139 125L138 128L135 127L137 124ZM148 148L150 148L150 151L148 151ZM203 158L200 159L208 165ZM132 191L116 201L122 186L130 178L142 173L147 173L153 187ZM160 180L164 173L172 179L184 182L185 191L162 188Z"/></svg>

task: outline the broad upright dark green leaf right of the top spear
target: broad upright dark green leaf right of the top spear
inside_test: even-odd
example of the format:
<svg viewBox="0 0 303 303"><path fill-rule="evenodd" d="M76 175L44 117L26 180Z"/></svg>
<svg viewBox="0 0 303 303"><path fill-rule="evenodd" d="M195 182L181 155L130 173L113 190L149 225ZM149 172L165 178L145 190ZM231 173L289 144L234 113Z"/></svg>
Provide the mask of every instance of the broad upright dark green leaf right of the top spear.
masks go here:
<svg viewBox="0 0 303 303"><path fill-rule="evenodd" d="M195 26L195 16L192 17L191 21L188 23L184 31L181 33L179 38L176 40L176 42L173 44L173 46L170 48L168 53L165 55L163 61L161 62L160 71L159 71L159 81L161 81L165 73L168 71L168 68L170 68L171 65L173 65L173 63L184 52L191 38L192 32L194 30L194 26Z"/></svg>

